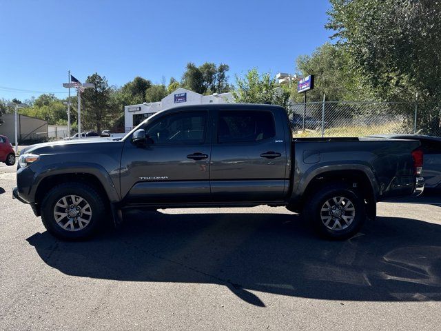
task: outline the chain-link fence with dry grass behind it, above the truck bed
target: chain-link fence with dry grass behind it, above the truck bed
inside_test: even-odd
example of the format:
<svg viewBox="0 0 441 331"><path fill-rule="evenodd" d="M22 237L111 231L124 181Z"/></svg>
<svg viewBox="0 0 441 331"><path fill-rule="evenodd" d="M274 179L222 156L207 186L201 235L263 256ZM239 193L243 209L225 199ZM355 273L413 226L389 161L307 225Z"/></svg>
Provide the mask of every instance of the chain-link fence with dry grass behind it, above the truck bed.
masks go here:
<svg viewBox="0 0 441 331"><path fill-rule="evenodd" d="M427 114L419 111L416 102L325 101L291 104L289 118L294 137L441 136L441 114L432 112L427 121Z"/></svg>

